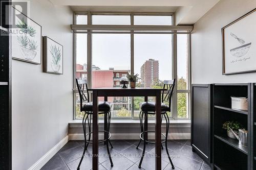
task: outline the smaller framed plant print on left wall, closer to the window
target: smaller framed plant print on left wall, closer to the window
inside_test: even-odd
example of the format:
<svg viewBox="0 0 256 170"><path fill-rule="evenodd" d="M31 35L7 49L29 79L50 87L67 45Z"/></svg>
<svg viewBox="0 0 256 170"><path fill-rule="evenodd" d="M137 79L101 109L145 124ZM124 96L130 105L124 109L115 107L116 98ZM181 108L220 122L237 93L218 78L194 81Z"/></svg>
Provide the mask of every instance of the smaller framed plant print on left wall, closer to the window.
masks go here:
<svg viewBox="0 0 256 170"><path fill-rule="evenodd" d="M44 37L45 72L63 74L63 46L51 38Z"/></svg>

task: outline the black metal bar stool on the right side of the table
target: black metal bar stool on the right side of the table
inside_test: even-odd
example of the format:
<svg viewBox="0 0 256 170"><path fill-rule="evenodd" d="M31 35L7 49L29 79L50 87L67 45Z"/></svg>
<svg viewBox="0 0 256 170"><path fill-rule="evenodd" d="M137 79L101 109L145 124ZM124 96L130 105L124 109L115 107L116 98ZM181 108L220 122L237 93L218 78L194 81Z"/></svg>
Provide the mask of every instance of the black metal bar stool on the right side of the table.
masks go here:
<svg viewBox="0 0 256 170"><path fill-rule="evenodd" d="M163 141L161 141L161 147L163 149L162 143L165 143L165 149L166 149L166 153L168 155L168 159L170 161L170 164L172 165L172 168L174 169L174 164L172 162L172 159L170 159L169 156L169 152L168 152L168 148L167 148L167 138L168 138L168 131L169 131L169 117L167 112L170 112L170 103L171 103L171 99L172 99L172 95L173 95L173 91L174 91L174 86L175 86L175 79L174 80L164 80L164 86L163 88L167 89L167 93L164 93L165 91L162 92L162 100L161 100L161 122L162 122L162 118L164 116L165 121L166 121L166 133L165 135L163 133L161 133L161 135L163 135L165 137L165 139ZM167 103L167 104L165 104ZM140 128L141 128L141 133L140 133L140 141L139 144L137 145L136 149L138 149L140 142L143 140L144 141L144 146L143 146L143 152L142 152L142 156L140 159L140 163L139 163L139 168L141 167L142 161L143 161L143 157L145 154L145 149L146 149L146 143L152 143L155 144L155 142L152 141L148 141L146 139L144 139L145 137L145 133L148 132L155 132L155 131L145 131L145 126L143 127L143 116L144 119L147 119L147 115L155 115L156 113L156 104L155 102L142 102L140 103ZM144 125L145 125L145 120L144 120Z"/></svg>

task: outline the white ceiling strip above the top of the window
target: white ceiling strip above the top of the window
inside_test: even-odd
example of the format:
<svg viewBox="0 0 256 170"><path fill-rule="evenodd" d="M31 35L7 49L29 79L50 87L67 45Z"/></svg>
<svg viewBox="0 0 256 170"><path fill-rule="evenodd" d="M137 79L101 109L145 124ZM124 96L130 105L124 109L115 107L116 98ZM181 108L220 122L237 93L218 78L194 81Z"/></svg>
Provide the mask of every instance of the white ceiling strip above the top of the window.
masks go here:
<svg viewBox="0 0 256 170"><path fill-rule="evenodd" d="M194 24L220 0L49 0L75 12L176 12L177 25Z"/></svg>

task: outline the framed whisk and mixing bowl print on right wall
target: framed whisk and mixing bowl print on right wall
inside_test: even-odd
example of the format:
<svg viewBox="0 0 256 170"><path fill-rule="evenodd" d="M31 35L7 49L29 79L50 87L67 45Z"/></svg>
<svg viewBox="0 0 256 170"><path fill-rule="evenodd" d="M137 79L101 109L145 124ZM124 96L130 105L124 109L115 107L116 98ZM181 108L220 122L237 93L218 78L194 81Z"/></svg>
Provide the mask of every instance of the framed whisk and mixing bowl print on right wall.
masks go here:
<svg viewBox="0 0 256 170"><path fill-rule="evenodd" d="M256 71L256 8L222 28L223 75Z"/></svg>

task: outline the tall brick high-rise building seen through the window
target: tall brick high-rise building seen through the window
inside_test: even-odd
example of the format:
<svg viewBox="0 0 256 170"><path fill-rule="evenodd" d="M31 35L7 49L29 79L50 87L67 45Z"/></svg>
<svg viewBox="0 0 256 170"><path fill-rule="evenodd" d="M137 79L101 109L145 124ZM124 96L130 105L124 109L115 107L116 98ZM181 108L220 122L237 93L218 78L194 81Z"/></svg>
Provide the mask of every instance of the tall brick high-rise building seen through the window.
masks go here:
<svg viewBox="0 0 256 170"><path fill-rule="evenodd" d="M158 60L148 59L140 67L140 78L142 87L151 87L152 82L157 79L159 75Z"/></svg>

